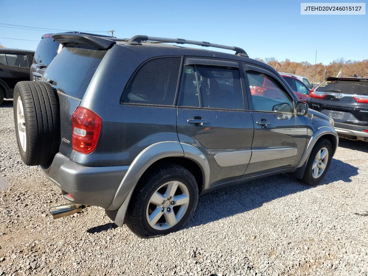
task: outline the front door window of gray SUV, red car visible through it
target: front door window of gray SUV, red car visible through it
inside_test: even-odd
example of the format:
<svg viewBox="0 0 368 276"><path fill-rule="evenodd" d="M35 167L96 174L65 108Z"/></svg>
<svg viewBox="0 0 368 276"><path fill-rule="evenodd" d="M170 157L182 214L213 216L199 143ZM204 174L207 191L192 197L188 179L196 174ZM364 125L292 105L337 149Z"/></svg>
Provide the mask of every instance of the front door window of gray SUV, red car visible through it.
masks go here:
<svg viewBox="0 0 368 276"><path fill-rule="evenodd" d="M255 71L247 77L254 110L293 113L293 100L276 79Z"/></svg>

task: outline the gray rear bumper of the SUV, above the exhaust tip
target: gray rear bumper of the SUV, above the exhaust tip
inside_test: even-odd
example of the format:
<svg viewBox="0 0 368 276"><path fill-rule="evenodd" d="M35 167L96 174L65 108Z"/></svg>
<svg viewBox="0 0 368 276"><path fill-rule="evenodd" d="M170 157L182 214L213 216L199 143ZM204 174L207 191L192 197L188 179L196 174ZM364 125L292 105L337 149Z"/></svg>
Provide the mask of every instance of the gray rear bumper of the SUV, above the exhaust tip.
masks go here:
<svg viewBox="0 0 368 276"><path fill-rule="evenodd" d="M41 167L47 178L58 185L69 201L107 208L129 166L85 167L57 153L52 164ZM66 196L71 194L74 199Z"/></svg>

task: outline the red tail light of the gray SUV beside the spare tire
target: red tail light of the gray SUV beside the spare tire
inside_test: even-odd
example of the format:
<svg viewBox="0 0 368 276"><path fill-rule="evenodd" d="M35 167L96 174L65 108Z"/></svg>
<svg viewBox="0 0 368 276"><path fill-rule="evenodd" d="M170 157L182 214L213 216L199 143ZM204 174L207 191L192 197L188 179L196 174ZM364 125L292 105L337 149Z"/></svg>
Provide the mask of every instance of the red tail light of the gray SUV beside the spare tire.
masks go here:
<svg viewBox="0 0 368 276"><path fill-rule="evenodd" d="M88 154L95 150L100 137L102 119L84 107L78 107L72 117L71 145L74 151Z"/></svg>

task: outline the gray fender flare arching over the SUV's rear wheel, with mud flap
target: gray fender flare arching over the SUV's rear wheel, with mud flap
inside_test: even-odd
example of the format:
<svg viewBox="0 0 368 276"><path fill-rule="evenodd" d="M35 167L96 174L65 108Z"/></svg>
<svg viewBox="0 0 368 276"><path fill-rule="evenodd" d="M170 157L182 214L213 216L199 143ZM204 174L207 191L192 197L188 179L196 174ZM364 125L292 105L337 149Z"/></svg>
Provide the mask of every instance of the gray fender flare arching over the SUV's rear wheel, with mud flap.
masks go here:
<svg viewBox="0 0 368 276"><path fill-rule="evenodd" d="M205 155L197 148L180 142L159 142L145 148L131 163L125 174L115 197L106 210L106 214L114 220L118 226L123 226L130 198L133 194L139 178L154 162L166 157L185 157L196 162L204 176L203 188L209 187L209 164ZM117 210L117 211L116 211Z"/></svg>

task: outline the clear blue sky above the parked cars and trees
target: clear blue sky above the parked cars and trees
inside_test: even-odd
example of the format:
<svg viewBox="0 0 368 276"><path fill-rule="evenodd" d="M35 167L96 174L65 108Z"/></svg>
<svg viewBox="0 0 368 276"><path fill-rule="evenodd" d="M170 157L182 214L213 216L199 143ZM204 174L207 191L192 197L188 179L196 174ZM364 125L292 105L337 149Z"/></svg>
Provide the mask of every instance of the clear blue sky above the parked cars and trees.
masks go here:
<svg viewBox="0 0 368 276"><path fill-rule="evenodd" d="M368 59L368 15L300 15L301 1L2 1L0 23L108 31L239 46L250 57L328 64ZM307 2L307 1L305 1ZM17 7L14 7L16 4ZM45 31L0 27L0 37L39 40ZM104 33L107 34L107 33ZM38 42L3 39L8 48Z"/></svg>

